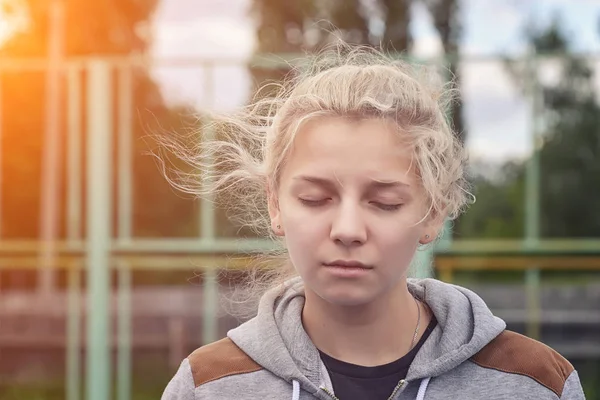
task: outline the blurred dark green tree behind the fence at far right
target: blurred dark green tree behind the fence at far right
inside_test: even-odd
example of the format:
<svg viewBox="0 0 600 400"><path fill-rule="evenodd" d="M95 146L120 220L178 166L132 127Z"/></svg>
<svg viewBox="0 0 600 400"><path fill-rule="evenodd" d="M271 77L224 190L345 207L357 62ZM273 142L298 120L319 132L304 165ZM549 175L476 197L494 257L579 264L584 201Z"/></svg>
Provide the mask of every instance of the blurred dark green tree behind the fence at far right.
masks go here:
<svg viewBox="0 0 600 400"><path fill-rule="evenodd" d="M593 70L585 59L570 52L558 20L546 30L531 31L529 40L539 59L554 63L560 70L556 82L544 82L540 69L534 71L535 81L540 82L544 123L539 150L540 234L598 237L600 105ZM507 67L527 93L527 85L533 79L530 72L522 63L508 62ZM462 218L462 236L522 236L525 167L526 163L513 164L512 172L501 181L476 179L481 195ZM512 211L503 214L503 221L498 224L495 216L502 213L500 210Z"/></svg>

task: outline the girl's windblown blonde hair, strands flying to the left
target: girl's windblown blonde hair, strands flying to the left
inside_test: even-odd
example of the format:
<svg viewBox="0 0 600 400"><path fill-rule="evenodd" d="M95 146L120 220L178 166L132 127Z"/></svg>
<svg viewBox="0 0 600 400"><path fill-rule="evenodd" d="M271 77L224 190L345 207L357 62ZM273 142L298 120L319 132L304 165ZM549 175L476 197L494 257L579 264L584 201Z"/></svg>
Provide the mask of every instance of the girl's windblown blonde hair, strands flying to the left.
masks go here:
<svg viewBox="0 0 600 400"><path fill-rule="evenodd" d="M213 196L234 222L277 241L270 228L267 188L276 192L286 157L301 125L323 116L394 121L411 145L428 202L428 216L455 219L472 195L465 179L467 155L448 120L456 90L432 68L395 59L365 46L337 42L292 67L274 95L255 99L239 112L213 115L197 146L163 141L192 173L171 182L197 196ZM293 275L285 250L260 260L287 268L255 272L259 294ZM263 271L264 272L264 271ZM261 276L259 278L259 276Z"/></svg>

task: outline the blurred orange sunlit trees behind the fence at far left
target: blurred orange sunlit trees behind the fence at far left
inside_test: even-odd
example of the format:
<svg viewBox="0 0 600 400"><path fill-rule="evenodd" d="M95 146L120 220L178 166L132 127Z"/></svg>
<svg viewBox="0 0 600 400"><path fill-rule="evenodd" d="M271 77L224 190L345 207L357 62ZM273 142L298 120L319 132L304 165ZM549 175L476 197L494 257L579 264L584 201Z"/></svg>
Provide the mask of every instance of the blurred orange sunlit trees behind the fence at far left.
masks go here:
<svg viewBox="0 0 600 400"><path fill-rule="evenodd" d="M82 2L63 0L64 57L127 56L143 54L150 38L143 32L158 0L110 0ZM16 0L14 7L25 9L27 29L18 32L0 48L0 55L13 60L41 59L47 56L49 0ZM85 77L85 73L81 75ZM115 74L116 77L116 74ZM39 204L44 126L45 75L43 71L4 72L2 78L3 180L2 232L5 237L36 237L39 229ZM85 79L82 80L85 82ZM61 138L65 141L65 81L62 84ZM116 86L114 88L116 102ZM85 86L83 87L85 92ZM83 97L85 99L85 97ZM10 101L6 101L10 99ZM81 110L85 110L82 107ZM144 68L133 69L134 141L134 234L138 236L186 236L197 234L197 213L190 199L169 186L155 161L148 157L149 136L189 129L195 123L191 110L170 108ZM84 121L86 116L83 116ZM115 126L118 116L115 117ZM83 132L85 135L85 132ZM63 148L63 156L64 156ZM113 160L115 163L116 158ZM65 160L62 162L62 193L65 189ZM24 183L25 182L25 183ZM64 221L65 201L60 201L60 220ZM60 234L65 234L61 226Z"/></svg>

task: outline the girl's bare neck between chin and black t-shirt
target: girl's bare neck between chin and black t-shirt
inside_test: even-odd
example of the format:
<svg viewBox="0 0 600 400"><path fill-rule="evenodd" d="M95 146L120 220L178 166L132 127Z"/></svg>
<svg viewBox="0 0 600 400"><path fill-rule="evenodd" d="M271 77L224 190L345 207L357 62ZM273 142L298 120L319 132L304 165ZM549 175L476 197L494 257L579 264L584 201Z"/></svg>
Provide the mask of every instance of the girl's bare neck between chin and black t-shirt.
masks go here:
<svg viewBox="0 0 600 400"><path fill-rule="evenodd" d="M375 366L410 351L419 311L405 280L389 293L360 306L334 305L305 290L302 323L322 352L348 363ZM423 305L419 303L419 307L420 336L429 318Z"/></svg>

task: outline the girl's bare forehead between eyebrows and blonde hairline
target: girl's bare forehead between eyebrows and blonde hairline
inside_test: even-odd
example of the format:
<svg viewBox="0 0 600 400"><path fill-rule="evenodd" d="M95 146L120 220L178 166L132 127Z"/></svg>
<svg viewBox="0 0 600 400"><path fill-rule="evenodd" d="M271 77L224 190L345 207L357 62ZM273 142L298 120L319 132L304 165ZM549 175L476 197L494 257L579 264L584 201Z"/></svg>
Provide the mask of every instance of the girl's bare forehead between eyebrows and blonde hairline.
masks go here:
<svg viewBox="0 0 600 400"><path fill-rule="evenodd" d="M400 180L416 184L413 153L397 126L383 119L318 118L297 133L282 179Z"/></svg>

